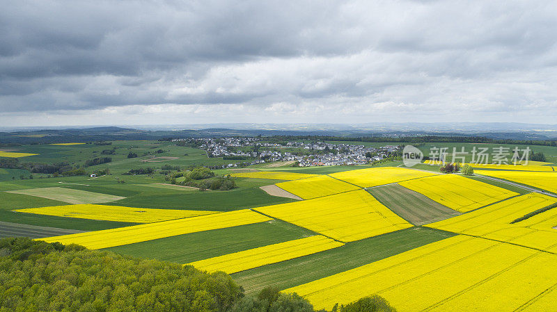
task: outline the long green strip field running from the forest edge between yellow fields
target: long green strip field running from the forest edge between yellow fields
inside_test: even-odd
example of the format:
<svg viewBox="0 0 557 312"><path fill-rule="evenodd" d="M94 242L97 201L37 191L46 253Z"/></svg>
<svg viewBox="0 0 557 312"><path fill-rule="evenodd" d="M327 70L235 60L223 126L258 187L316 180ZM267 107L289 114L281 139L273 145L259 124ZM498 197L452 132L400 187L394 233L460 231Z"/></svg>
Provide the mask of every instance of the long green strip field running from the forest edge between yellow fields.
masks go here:
<svg viewBox="0 0 557 312"><path fill-rule="evenodd" d="M232 274L232 277L244 287L246 293L255 293L267 286L285 289L351 270L454 235L445 231L413 227L347 243L343 247L317 254L238 272Z"/></svg>

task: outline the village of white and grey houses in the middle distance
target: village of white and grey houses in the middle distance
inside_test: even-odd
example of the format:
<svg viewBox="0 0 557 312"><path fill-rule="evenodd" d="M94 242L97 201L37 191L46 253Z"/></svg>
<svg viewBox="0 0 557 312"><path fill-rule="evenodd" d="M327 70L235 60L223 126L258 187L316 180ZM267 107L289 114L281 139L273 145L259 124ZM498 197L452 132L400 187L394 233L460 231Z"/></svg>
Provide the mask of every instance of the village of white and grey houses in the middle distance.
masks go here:
<svg viewBox="0 0 557 312"><path fill-rule="evenodd" d="M187 140L207 151L209 157L224 157L229 160L249 160L242 165L256 165L276 161L292 161L300 167L331 165L366 165L393 156L402 147L386 145L366 147L364 145L334 144L327 142L266 142L265 138L191 138ZM226 167L236 167L228 164Z"/></svg>

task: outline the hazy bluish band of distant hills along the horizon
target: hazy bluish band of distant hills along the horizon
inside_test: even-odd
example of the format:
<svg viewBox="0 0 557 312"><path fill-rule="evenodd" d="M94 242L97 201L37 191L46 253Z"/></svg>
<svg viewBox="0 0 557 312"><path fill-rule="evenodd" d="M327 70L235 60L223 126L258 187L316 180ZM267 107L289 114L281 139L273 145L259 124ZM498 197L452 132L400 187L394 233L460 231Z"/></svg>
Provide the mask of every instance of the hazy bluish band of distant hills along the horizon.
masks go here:
<svg viewBox="0 0 557 312"><path fill-rule="evenodd" d="M228 124L236 128L210 127L180 129L178 126L160 126L158 129L123 128L119 126L96 126L90 128L31 129L26 131L0 132L0 144L32 144L60 142L91 142L97 140L159 140L163 138L219 138L225 136L334 136L338 138L416 137L416 136L480 136L496 140L555 140L557 129L552 125L531 124ZM259 126L259 128L257 127ZM398 129L396 130L398 126ZM193 125L192 128L197 128ZM513 128L514 127L514 128ZM424 130L416 130L423 128ZM426 130L428 129L428 130ZM441 131L445 129L445 131ZM505 131L505 129L517 129Z"/></svg>

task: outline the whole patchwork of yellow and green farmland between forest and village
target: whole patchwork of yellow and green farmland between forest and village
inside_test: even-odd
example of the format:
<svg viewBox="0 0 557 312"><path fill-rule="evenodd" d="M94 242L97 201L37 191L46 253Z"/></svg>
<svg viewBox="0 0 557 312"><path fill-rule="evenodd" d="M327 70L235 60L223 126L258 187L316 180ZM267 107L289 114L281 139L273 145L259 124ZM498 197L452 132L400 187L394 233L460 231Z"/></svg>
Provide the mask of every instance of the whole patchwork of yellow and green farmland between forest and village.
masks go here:
<svg viewBox="0 0 557 312"><path fill-rule="evenodd" d="M129 150L175 148L133 144ZM80 152L97 154L92 148L20 151L30 154L24 158L77 161ZM124 153L104 176L2 179L0 236L222 271L247 294L272 286L301 295L316 310L370 295L397 311L552 311L557 302L551 163L478 167L474 176L439 174L432 162L418 169L400 162L254 166L216 170L237 187L210 191L122 169L174 165L189 159L184 150L201 156L184 147L159 163Z"/></svg>

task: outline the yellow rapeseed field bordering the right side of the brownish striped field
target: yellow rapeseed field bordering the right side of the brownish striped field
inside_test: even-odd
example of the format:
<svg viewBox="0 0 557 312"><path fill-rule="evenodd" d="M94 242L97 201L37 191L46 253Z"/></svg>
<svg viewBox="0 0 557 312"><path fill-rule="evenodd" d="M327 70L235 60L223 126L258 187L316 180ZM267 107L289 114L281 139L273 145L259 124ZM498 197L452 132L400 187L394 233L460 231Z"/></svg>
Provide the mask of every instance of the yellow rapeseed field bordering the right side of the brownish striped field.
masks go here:
<svg viewBox="0 0 557 312"><path fill-rule="evenodd" d="M428 176L398 184L461 213L519 195L517 192L455 174Z"/></svg>

